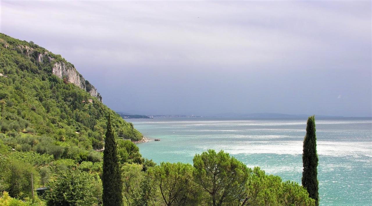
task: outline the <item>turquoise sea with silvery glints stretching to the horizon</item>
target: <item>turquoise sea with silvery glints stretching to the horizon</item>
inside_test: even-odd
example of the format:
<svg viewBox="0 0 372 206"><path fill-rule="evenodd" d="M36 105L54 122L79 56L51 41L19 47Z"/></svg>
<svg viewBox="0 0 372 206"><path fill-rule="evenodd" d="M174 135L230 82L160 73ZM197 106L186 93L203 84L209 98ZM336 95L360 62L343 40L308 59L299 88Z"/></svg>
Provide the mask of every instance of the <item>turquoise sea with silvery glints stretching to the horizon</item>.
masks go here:
<svg viewBox="0 0 372 206"><path fill-rule="evenodd" d="M131 120L150 139L142 156L192 163L208 149L224 150L283 180L301 183L307 118L155 118ZM372 119L316 118L320 205L372 205Z"/></svg>

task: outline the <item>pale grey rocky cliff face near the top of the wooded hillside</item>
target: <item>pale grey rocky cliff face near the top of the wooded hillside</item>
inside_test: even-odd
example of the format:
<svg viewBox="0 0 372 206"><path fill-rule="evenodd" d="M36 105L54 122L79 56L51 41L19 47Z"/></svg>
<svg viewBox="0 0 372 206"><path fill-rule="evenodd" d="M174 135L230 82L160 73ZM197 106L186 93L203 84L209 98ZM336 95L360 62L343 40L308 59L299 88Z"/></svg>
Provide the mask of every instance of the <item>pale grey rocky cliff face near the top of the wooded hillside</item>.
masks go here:
<svg viewBox="0 0 372 206"><path fill-rule="evenodd" d="M97 97L100 102L102 102L101 95L97 92L97 89L93 85L86 81L84 77L77 72L73 64L61 60L56 60L49 55L49 52L45 51L40 53L33 48L28 46L19 45L19 50L23 52L24 55L33 57L36 62L40 63L51 63L52 64L52 74L58 76L61 79L65 79L67 82L73 83L87 91L92 97Z"/></svg>

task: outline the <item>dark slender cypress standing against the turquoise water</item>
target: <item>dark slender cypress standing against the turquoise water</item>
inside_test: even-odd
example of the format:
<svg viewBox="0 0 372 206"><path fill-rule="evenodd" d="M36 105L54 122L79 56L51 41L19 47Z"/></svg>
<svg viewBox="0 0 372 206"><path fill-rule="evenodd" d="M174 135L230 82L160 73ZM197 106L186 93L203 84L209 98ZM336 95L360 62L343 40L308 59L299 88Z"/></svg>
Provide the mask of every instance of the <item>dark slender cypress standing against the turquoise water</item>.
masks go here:
<svg viewBox="0 0 372 206"><path fill-rule="evenodd" d="M304 149L302 153L302 186L309 193L309 197L315 200L315 205L319 205L318 193L318 154L317 154L317 136L315 135L315 118L311 116L307 120L306 136L304 139Z"/></svg>

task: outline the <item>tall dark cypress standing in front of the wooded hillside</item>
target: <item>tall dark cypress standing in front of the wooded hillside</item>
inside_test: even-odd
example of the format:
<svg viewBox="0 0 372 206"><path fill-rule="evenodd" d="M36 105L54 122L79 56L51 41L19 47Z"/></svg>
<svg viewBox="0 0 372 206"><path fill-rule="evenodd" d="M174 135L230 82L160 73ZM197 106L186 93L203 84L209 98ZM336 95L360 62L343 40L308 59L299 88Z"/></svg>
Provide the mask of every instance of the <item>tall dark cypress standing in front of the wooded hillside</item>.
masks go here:
<svg viewBox="0 0 372 206"><path fill-rule="evenodd" d="M119 170L115 131L111 125L110 115L106 126L105 150L103 150L102 186L103 206L121 206L123 186Z"/></svg>

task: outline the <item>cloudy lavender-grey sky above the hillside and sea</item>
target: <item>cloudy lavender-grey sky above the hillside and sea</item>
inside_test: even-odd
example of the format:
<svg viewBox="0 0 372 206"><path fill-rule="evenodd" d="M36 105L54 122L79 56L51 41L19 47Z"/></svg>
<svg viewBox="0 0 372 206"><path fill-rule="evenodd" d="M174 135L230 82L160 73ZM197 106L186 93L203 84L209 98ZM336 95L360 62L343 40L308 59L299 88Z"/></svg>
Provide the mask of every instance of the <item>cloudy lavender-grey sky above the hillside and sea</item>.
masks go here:
<svg viewBox="0 0 372 206"><path fill-rule="evenodd" d="M7 1L115 111L372 116L371 1Z"/></svg>

